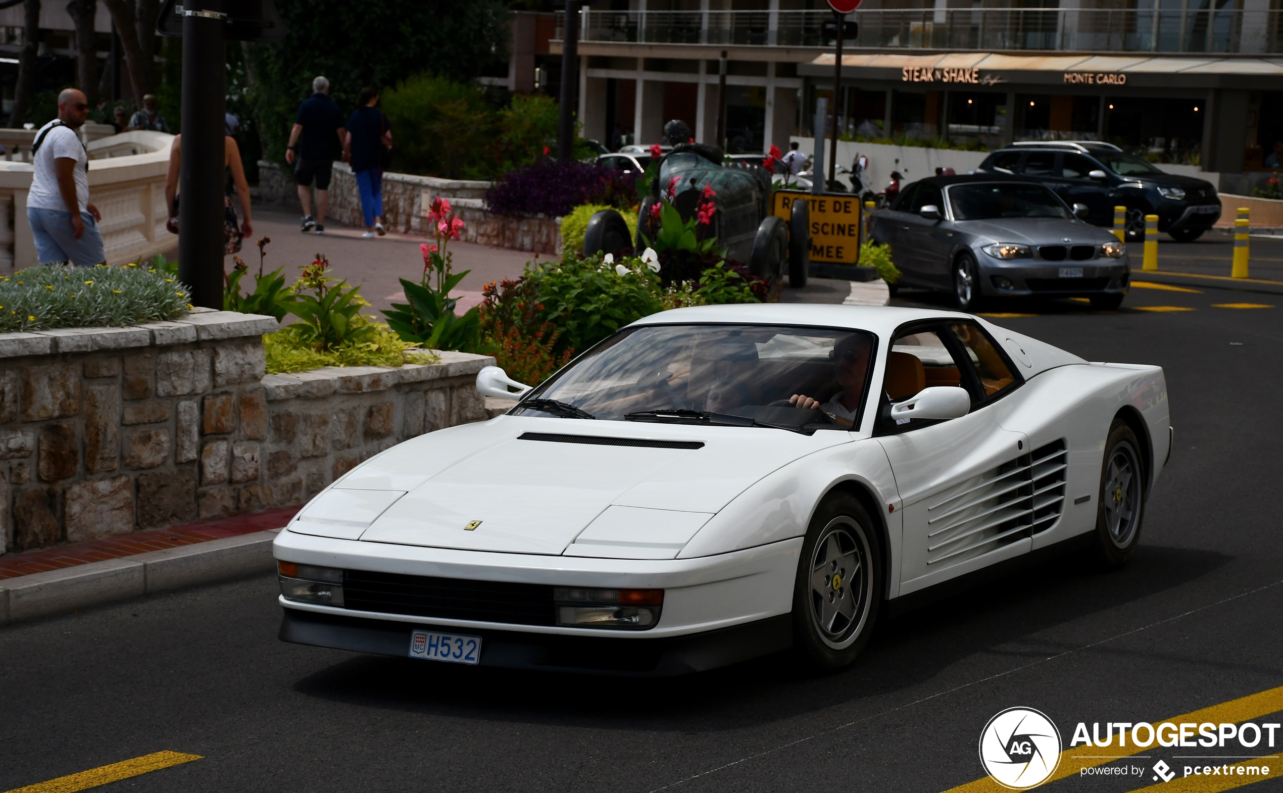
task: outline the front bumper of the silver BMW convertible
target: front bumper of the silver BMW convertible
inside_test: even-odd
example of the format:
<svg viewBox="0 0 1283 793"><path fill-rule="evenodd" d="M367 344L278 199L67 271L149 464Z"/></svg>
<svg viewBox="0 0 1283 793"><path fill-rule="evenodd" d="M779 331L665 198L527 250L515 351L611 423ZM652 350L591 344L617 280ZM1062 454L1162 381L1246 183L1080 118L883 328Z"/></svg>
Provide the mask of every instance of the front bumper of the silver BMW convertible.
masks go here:
<svg viewBox="0 0 1283 793"><path fill-rule="evenodd" d="M992 296L1089 298L1126 293L1132 284L1130 254L1087 262L1002 260L979 252L981 294ZM1082 267L1082 277L1061 278L1065 267Z"/></svg>

